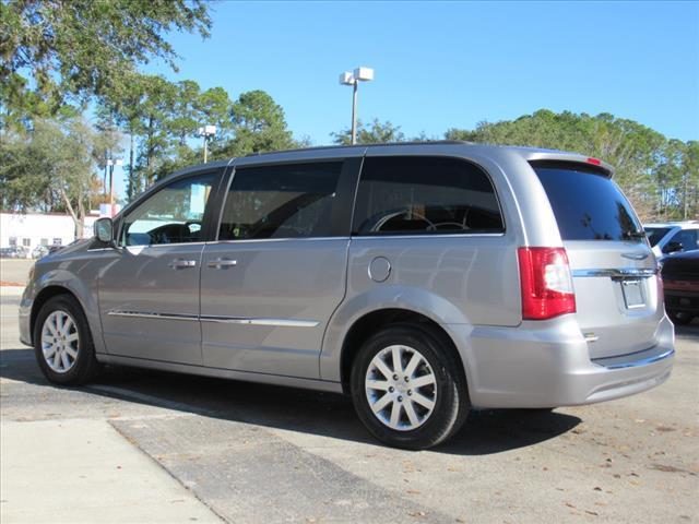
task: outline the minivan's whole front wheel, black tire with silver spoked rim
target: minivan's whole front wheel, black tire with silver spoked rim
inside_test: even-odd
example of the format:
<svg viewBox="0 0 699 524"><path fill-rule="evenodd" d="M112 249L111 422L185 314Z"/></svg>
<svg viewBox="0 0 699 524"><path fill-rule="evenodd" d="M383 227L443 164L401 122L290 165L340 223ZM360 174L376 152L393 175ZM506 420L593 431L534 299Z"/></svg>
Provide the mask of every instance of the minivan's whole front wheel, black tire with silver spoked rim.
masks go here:
<svg viewBox="0 0 699 524"><path fill-rule="evenodd" d="M97 374L92 333L75 298L59 295L42 307L34 325L34 354L44 377L55 384L80 385Z"/></svg>

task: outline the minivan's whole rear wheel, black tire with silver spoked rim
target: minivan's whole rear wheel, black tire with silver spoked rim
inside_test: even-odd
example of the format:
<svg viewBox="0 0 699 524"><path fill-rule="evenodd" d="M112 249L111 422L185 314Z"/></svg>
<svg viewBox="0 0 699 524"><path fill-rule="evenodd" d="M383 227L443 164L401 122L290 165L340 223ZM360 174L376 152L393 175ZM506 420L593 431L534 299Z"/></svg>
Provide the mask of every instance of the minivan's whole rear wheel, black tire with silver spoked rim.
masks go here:
<svg viewBox="0 0 699 524"><path fill-rule="evenodd" d="M459 430L469 413L461 364L439 334L408 324L386 327L359 349L352 398L378 440L424 450Z"/></svg>

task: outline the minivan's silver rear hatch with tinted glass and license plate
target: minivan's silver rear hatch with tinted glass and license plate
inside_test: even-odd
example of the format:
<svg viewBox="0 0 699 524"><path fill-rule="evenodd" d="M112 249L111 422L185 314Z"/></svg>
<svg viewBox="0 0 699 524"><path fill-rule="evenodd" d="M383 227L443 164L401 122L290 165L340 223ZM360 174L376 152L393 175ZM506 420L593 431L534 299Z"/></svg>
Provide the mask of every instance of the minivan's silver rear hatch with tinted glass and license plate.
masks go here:
<svg viewBox="0 0 699 524"><path fill-rule="evenodd" d="M577 318L590 357L648 349L663 318L655 258L609 174L578 163L533 162L568 253Z"/></svg>

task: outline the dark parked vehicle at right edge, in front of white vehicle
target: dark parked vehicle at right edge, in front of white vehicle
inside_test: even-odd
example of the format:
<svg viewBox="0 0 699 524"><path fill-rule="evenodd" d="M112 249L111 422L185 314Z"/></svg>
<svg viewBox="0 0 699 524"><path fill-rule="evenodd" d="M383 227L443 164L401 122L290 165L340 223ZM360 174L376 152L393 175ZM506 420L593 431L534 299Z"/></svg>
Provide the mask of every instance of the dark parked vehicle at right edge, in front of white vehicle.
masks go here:
<svg viewBox="0 0 699 524"><path fill-rule="evenodd" d="M699 250L673 253L663 261L665 310L675 324L699 317Z"/></svg>

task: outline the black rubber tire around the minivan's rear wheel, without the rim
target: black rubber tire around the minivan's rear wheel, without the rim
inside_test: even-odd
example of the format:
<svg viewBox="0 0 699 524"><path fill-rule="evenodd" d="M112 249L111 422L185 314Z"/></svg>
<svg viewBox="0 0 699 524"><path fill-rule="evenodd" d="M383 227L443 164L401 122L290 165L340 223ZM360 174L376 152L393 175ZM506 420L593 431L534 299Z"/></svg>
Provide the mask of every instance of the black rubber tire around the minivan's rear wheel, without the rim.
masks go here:
<svg viewBox="0 0 699 524"><path fill-rule="evenodd" d="M379 420L366 392L365 380L371 360L394 345L419 352L436 379L434 408L415 429L393 429ZM425 450L443 442L461 428L470 410L465 376L451 344L440 333L412 324L389 325L362 346L353 364L351 390L357 415L369 432L381 442L406 450ZM407 417L404 408L399 413Z"/></svg>

